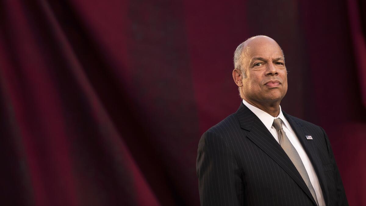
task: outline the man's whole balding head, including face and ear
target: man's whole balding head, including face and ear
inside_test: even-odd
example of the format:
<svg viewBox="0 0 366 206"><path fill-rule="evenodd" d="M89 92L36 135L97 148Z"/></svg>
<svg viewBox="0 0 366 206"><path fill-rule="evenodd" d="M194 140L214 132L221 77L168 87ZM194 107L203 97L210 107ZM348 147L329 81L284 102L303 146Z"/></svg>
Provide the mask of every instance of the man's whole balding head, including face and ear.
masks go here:
<svg viewBox="0 0 366 206"><path fill-rule="evenodd" d="M234 65L232 76L242 99L261 108L279 104L285 96L285 60L282 49L272 38L255 36L241 43L234 54Z"/></svg>

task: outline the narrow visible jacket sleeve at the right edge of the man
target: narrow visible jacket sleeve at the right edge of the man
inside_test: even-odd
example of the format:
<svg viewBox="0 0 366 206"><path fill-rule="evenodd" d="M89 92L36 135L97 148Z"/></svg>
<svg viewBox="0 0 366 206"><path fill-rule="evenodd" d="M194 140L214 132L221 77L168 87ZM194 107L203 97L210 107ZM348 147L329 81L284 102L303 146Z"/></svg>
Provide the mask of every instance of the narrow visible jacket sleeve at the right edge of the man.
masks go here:
<svg viewBox="0 0 366 206"><path fill-rule="evenodd" d="M335 184L337 187L337 205L346 205L348 206L348 202L347 202L347 198L346 198L346 192L344 191L344 187L343 187L343 183L342 183L342 179L338 170L338 166L336 164L336 161L334 159L334 154L333 154L333 150L332 150L332 146L330 146L330 142L328 139L328 136L326 135L325 131L323 128L321 128L321 130L324 133L324 137L325 137L325 141L326 141L326 146L328 147L328 153L329 153L329 157L330 160L332 161L334 167L335 167Z"/></svg>

